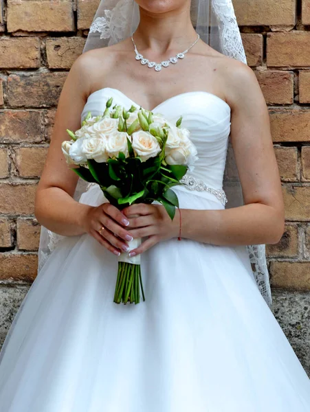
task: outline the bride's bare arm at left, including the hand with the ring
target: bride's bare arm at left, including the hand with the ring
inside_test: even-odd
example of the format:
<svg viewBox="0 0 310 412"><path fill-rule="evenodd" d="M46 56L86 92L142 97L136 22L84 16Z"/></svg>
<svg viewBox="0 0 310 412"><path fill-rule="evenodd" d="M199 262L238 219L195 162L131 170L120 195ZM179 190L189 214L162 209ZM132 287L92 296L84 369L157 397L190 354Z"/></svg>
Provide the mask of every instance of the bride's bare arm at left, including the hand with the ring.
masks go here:
<svg viewBox="0 0 310 412"><path fill-rule="evenodd" d="M68 168L61 150L62 142L69 140L66 129L80 128L80 114L90 91L87 82L92 64L86 54L79 56L60 93L52 139L36 190L34 214L41 225L55 233L63 236L89 233L109 251L119 254L120 249L128 247L122 239L131 239L124 229L128 220L112 205L93 207L74 200L78 175ZM102 226L109 229L104 236L98 233Z"/></svg>

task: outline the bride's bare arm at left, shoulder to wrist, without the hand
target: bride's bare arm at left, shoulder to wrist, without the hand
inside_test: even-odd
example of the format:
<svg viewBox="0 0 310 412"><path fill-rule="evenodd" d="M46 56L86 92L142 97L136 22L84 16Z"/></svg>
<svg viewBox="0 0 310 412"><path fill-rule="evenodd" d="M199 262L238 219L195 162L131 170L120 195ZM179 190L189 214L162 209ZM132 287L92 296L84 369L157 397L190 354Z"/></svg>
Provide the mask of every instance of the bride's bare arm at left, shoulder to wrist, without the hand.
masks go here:
<svg viewBox="0 0 310 412"><path fill-rule="evenodd" d="M69 71L60 93L52 139L47 159L36 190L34 214L41 225L58 234L70 236L81 232L80 219L88 206L71 197L78 176L69 170L61 151L61 143L69 140L65 131L80 128L80 113L86 102L87 76L83 73L85 59L78 58Z"/></svg>

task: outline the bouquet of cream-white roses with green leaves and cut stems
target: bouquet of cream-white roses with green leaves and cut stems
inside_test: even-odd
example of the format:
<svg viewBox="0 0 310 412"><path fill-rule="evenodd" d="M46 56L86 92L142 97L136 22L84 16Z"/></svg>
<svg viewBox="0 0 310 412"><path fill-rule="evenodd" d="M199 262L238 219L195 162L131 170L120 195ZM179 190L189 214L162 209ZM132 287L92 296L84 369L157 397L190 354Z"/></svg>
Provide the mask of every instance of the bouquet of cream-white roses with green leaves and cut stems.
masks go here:
<svg viewBox="0 0 310 412"><path fill-rule="evenodd" d="M170 187L179 185L188 167L197 159L189 131L181 128L181 117L170 124L160 114L131 106L112 107L109 99L102 115L91 112L76 132L67 129L70 141L62 150L69 167L82 179L98 183L107 200L122 209L133 203L162 203L171 219L179 207ZM129 242L129 250L141 243ZM127 253L118 258L114 302L140 302L144 290L140 255L135 263Z"/></svg>

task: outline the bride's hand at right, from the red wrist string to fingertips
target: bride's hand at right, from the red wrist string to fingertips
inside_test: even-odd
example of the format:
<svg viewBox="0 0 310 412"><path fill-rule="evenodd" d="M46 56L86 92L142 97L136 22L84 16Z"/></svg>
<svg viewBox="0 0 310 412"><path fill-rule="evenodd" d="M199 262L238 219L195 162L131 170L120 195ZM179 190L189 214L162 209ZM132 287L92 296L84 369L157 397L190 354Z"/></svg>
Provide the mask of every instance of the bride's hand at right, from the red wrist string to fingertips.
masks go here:
<svg viewBox="0 0 310 412"><path fill-rule="evenodd" d="M157 242L175 238L179 234L179 214L176 213L175 218L171 220L162 205L137 203L125 207L122 213L129 219L129 233L133 238L148 236L140 247L129 253L129 256L138 255Z"/></svg>

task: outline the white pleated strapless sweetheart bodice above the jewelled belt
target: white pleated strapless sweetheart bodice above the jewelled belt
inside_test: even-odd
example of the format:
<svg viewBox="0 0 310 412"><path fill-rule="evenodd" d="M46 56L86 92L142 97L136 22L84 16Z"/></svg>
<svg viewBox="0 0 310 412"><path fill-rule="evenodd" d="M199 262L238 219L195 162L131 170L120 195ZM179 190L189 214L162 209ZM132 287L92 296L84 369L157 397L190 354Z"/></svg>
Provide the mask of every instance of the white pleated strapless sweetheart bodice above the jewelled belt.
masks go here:
<svg viewBox="0 0 310 412"><path fill-rule="evenodd" d="M81 120L89 111L93 116L101 115L109 98L128 109L131 105L140 107L121 91L105 87L89 95ZM182 127L190 130L199 158L191 174L208 186L221 189L230 135L230 106L212 93L191 91L165 100L152 111L162 113L170 122L183 117Z"/></svg>

